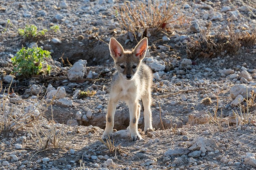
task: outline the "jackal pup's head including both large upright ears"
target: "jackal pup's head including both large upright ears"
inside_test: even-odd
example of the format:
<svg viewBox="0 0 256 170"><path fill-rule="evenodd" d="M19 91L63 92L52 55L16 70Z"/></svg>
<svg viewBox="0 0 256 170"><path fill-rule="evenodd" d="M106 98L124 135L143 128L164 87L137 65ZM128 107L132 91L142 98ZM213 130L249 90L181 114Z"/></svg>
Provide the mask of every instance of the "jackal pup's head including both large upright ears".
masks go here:
<svg viewBox="0 0 256 170"><path fill-rule="evenodd" d="M125 51L115 38L111 38L109 49L115 61L116 71L126 80L132 80L140 68L147 51L147 38L143 38L132 51Z"/></svg>

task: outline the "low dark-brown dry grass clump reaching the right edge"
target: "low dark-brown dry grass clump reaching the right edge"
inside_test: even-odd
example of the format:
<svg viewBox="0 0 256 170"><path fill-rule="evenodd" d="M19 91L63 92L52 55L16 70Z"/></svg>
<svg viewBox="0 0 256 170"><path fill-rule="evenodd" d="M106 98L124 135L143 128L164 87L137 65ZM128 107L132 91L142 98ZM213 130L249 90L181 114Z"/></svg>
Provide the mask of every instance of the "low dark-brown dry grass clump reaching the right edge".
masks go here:
<svg viewBox="0 0 256 170"><path fill-rule="evenodd" d="M211 23L207 30L202 30L199 40L189 43L187 48L188 58L195 59L198 56L204 58L217 57L237 53L241 46L251 47L256 44L256 31L235 32L234 25L229 23L227 33L220 31L217 34L209 35Z"/></svg>

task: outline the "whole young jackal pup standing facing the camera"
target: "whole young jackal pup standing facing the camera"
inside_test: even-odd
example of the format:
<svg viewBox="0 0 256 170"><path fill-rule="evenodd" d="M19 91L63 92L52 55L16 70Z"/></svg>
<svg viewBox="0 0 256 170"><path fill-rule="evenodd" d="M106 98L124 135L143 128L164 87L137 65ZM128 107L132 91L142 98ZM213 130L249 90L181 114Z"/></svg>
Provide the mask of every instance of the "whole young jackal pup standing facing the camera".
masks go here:
<svg viewBox="0 0 256 170"><path fill-rule="evenodd" d="M114 114L119 100L125 101L129 107L130 125L128 128L130 129L132 141L141 139L138 132L140 99L142 99L144 106L144 132L147 133L149 129L153 129L150 109L152 71L142 63L147 47L147 38L143 38L133 51L124 50L116 39L110 39L109 49L115 62L116 72L111 82L106 128L102 139L108 138L113 133Z"/></svg>

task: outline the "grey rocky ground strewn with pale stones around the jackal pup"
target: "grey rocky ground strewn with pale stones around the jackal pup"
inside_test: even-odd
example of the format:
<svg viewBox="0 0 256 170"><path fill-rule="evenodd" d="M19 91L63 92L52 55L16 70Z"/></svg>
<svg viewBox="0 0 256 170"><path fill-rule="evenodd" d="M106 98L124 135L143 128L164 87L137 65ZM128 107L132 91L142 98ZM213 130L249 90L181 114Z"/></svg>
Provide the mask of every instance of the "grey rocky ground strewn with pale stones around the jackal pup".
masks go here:
<svg viewBox="0 0 256 170"><path fill-rule="evenodd" d="M115 70L107 43L115 37L125 48L137 44L113 10L123 2L0 2L0 169L256 169L255 44L236 54L224 50L216 57L187 58L188 46L209 22L210 35L227 32L228 19L235 32L252 34L253 1L188 1L180 10L184 21L148 37L144 62L154 72L155 131L141 132L142 116L143 139L132 142L125 130L129 111L120 102L112 148L100 140ZM17 30L26 24L40 30L57 24L60 30L24 40ZM45 59L52 70L28 79L14 77L6 99L11 58L22 46L52 52ZM81 98L80 90L96 94ZM244 122L233 114L238 111L241 117L240 108L245 109ZM1 131L5 127L11 128Z"/></svg>

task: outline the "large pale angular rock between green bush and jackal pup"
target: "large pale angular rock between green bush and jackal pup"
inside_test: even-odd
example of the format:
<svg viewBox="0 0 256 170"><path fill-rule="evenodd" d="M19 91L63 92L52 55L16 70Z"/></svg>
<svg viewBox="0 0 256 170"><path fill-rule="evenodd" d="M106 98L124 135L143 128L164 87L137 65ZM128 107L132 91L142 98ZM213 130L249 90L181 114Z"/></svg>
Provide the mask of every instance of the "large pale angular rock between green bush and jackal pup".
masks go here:
<svg viewBox="0 0 256 170"><path fill-rule="evenodd" d="M74 63L73 67L67 71L69 80L79 80L84 78L86 72L86 60L79 60Z"/></svg>

